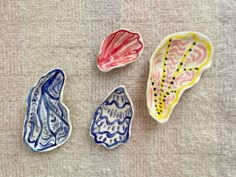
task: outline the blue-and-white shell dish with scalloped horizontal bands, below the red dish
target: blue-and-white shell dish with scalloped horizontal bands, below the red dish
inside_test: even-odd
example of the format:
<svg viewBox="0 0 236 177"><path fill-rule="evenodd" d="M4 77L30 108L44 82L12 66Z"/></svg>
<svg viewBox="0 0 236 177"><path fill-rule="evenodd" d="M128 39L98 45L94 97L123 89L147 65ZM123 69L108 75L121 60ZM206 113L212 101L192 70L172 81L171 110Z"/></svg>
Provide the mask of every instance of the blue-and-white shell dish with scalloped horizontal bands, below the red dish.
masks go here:
<svg viewBox="0 0 236 177"><path fill-rule="evenodd" d="M126 143L131 135L133 103L123 85L115 88L98 106L91 123L90 135L95 143L112 149Z"/></svg>

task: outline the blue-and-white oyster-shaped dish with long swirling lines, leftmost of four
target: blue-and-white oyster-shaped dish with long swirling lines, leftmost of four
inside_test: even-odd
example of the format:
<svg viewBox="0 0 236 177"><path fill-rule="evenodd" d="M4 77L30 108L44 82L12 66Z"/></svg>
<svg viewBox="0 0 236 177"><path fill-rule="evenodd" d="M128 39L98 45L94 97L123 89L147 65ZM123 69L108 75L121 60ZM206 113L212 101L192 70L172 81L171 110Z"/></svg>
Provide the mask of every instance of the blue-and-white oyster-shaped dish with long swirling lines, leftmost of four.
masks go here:
<svg viewBox="0 0 236 177"><path fill-rule="evenodd" d="M62 103L65 74L54 69L30 90L23 142L35 152L53 150L71 134L68 108Z"/></svg>

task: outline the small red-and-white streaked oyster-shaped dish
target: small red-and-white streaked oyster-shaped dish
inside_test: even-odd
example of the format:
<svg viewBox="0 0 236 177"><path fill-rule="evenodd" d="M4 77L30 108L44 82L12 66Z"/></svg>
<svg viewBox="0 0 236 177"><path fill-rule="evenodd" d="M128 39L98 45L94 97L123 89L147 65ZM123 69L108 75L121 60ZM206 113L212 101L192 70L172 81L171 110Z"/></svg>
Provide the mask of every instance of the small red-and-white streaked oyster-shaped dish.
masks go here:
<svg viewBox="0 0 236 177"><path fill-rule="evenodd" d="M115 31L102 42L97 58L97 66L107 72L136 61L143 51L139 33L126 29Z"/></svg>

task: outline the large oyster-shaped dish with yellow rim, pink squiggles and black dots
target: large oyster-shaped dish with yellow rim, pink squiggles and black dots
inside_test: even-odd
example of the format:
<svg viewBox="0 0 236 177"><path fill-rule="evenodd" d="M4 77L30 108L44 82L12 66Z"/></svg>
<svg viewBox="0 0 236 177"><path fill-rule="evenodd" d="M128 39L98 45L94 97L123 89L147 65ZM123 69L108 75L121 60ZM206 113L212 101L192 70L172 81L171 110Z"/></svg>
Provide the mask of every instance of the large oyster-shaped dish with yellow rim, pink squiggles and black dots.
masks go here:
<svg viewBox="0 0 236 177"><path fill-rule="evenodd" d="M183 92L196 84L211 66L213 46L197 32L167 36L150 59L147 107L160 123L166 122Z"/></svg>

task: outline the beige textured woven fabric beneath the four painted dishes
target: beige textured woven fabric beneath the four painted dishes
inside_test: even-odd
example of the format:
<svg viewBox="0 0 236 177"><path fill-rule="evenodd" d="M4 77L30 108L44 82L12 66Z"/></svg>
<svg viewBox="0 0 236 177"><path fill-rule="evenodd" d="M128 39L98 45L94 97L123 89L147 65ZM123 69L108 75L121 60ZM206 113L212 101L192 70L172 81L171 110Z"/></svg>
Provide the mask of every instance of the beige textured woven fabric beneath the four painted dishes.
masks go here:
<svg viewBox="0 0 236 177"><path fill-rule="evenodd" d="M0 176L235 177L235 16L235 0L0 0ZM144 52L102 73L95 62L100 44L121 27L141 33ZM213 65L161 125L146 109L148 62L166 35L188 30L211 39ZM73 131L62 147L35 154L22 144L26 99L54 67L67 74ZM132 137L106 150L89 127L96 106L119 84L135 107Z"/></svg>

